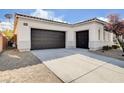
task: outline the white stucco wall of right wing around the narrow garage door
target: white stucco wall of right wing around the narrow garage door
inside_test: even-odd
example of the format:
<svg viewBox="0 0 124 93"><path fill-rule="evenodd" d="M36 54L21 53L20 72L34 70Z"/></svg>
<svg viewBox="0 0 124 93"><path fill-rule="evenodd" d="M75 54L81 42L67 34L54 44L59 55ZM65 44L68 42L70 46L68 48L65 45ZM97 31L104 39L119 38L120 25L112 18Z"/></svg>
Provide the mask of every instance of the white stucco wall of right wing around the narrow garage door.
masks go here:
<svg viewBox="0 0 124 93"><path fill-rule="evenodd" d="M74 26L72 30L74 32L89 30L89 49L90 50L98 50L105 45L111 46L113 44L113 33L104 31L104 26L101 23L91 22L87 24L80 24L80 25ZM100 39L99 39L99 33L98 33L99 30L100 30ZM105 39L103 34L104 32L105 32ZM76 39L76 33L74 38Z"/></svg>

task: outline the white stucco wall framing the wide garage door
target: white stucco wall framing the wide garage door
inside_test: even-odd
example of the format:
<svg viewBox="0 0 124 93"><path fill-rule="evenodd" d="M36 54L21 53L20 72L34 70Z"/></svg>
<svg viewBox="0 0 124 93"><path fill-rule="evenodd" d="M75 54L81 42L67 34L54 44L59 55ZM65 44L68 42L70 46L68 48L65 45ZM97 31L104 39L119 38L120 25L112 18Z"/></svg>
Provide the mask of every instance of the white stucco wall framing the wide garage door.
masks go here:
<svg viewBox="0 0 124 93"><path fill-rule="evenodd" d="M28 23L24 26L23 23ZM74 37L71 26L65 24L54 24L50 22L29 20L20 18L17 24L17 48L21 51L29 51L31 49L31 28L50 29L66 32L66 48L74 48Z"/></svg>

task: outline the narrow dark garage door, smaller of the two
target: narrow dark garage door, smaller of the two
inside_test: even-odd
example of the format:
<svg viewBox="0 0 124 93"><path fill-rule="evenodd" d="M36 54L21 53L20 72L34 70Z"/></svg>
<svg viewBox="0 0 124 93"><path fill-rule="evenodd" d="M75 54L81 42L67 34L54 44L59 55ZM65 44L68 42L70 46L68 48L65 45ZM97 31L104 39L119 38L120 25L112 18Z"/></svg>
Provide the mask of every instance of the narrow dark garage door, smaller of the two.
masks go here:
<svg viewBox="0 0 124 93"><path fill-rule="evenodd" d="M88 48L89 42L89 31L76 32L76 47L77 48Z"/></svg>

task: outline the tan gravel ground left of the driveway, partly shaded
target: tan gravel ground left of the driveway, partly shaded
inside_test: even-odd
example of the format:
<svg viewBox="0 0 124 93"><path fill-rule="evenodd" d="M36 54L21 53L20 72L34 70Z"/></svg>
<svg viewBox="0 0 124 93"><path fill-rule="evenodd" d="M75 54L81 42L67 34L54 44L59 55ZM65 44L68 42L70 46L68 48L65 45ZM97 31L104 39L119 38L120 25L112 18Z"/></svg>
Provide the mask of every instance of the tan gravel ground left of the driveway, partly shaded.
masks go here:
<svg viewBox="0 0 124 93"><path fill-rule="evenodd" d="M7 50L0 55L0 82L61 83L31 52Z"/></svg>

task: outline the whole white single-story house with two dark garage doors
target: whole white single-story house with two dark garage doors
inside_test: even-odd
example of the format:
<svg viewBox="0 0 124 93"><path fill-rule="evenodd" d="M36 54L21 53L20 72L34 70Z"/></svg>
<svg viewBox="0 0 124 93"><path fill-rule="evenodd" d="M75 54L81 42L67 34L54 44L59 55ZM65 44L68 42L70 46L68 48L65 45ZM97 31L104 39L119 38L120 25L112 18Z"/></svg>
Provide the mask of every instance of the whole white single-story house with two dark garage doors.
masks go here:
<svg viewBox="0 0 124 93"><path fill-rule="evenodd" d="M14 31L20 51L52 48L101 49L113 44L113 33L104 30L106 22L93 18L67 24L38 17L16 14Z"/></svg>

